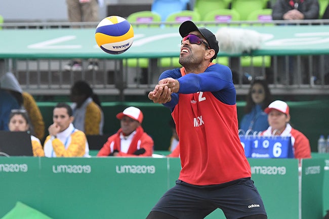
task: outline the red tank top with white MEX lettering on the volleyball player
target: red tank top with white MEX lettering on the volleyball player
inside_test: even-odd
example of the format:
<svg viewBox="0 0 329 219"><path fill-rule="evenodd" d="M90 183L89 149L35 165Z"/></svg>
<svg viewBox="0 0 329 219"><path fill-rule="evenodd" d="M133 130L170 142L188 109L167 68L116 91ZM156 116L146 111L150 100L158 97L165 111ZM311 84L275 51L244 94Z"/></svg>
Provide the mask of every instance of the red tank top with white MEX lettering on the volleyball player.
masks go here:
<svg viewBox="0 0 329 219"><path fill-rule="evenodd" d="M172 116L180 140L179 180L202 186L251 177L236 105L222 103L211 92L179 94Z"/></svg>

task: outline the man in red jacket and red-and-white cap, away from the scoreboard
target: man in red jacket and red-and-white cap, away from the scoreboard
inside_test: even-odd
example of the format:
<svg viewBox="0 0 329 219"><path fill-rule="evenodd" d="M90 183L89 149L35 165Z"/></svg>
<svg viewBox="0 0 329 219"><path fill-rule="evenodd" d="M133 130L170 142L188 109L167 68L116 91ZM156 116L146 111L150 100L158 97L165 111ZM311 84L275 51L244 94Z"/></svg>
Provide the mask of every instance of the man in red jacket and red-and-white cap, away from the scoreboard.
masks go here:
<svg viewBox="0 0 329 219"><path fill-rule="evenodd" d="M110 136L97 156L152 156L153 139L141 126L143 113L136 107L128 107L116 115L121 128Z"/></svg>

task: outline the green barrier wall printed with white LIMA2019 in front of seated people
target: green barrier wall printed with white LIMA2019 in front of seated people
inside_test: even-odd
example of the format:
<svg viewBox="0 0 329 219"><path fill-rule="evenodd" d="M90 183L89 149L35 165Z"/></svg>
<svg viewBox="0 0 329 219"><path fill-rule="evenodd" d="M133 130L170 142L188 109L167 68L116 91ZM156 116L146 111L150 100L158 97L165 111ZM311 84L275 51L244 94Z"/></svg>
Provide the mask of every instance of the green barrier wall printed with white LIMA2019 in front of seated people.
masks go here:
<svg viewBox="0 0 329 219"><path fill-rule="evenodd" d="M303 160L300 177L296 159L249 159L268 218L321 218L323 160ZM0 157L0 217L20 201L54 219L145 218L180 168L179 158Z"/></svg>

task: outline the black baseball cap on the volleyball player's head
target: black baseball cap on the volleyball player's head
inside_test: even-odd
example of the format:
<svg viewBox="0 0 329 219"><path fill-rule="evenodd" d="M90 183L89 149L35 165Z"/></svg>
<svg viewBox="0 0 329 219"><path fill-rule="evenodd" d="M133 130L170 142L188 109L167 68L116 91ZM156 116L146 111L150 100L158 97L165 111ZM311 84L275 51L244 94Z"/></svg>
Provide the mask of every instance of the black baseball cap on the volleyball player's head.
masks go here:
<svg viewBox="0 0 329 219"><path fill-rule="evenodd" d="M201 35L208 41L209 47L215 50L215 55L213 56L213 59L216 59L217 54L219 52L219 46L216 36L214 35L214 33L212 33L212 31L204 27L198 28L192 21L184 21L179 27L179 34L184 37L195 30L199 31Z"/></svg>

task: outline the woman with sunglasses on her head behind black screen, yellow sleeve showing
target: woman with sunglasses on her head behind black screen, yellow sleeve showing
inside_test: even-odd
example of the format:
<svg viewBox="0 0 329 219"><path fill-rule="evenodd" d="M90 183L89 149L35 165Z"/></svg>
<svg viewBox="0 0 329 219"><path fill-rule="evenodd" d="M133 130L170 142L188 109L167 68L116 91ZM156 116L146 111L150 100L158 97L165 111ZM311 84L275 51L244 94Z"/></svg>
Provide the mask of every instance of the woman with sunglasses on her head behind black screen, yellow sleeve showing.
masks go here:
<svg viewBox="0 0 329 219"><path fill-rule="evenodd" d="M24 109L13 109L9 116L8 123L11 132L29 132L28 115ZM32 151L34 157L44 157L45 152L38 138L31 133Z"/></svg>

